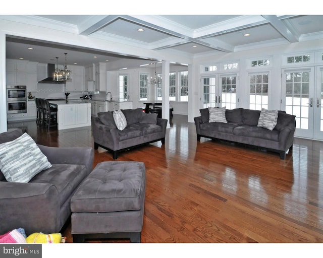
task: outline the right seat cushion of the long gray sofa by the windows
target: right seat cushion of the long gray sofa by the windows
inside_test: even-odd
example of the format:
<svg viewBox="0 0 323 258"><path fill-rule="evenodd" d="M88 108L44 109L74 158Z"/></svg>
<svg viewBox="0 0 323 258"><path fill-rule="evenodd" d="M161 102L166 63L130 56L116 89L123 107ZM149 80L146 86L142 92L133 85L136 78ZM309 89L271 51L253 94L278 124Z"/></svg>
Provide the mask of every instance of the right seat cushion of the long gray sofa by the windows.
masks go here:
<svg viewBox="0 0 323 258"><path fill-rule="evenodd" d="M246 136L259 138L259 141L270 140L276 141L279 140L279 131L277 130L268 130L263 127L258 127L254 125L240 125L233 128L233 134L238 136Z"/></svg>

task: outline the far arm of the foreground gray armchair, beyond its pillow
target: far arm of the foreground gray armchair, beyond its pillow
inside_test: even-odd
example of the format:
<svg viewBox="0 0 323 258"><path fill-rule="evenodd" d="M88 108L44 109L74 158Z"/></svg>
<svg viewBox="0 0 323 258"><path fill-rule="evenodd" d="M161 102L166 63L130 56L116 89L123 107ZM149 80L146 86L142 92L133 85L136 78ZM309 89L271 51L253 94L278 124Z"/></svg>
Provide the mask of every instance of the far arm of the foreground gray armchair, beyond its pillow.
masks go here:
<svg viewBox="0 0 323 258"><path fill-rule="evenodd" d="M93 169L94 151L91 147L48 147L38 145L51 164L85 165L87 174Z"/></svg>

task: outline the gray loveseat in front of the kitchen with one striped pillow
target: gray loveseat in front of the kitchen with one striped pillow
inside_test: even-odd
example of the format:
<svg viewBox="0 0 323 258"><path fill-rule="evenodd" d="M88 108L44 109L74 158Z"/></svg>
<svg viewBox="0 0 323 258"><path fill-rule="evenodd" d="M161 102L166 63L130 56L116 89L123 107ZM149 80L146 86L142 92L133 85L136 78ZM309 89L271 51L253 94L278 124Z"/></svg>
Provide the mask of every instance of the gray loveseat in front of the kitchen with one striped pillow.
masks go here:
<svg viewBox="0 0 323 258"><path fill-rule="evenodd" d="M121 111L127 120L124 130L117 128L113 112L100 112L97 117L92 117L95 150L100 146L112 152L113 158L117 159L121 151L157 141L165 144L167 119L143 113L142 108Z"/></svg>

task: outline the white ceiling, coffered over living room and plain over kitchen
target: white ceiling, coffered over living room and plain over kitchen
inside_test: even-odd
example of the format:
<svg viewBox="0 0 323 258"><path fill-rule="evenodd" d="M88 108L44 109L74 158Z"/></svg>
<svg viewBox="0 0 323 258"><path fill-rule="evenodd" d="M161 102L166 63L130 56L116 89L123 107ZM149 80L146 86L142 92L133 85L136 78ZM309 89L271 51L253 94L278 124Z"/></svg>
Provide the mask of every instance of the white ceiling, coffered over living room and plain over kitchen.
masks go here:
<svg viewBox="0 0 323 258"><path fill-rule="evenodd" d="M323 38L323 15L4 15L0 19L66 31L121 44L198 57ZM143 31L139 32L138 29ZM27 47L33 47L30 51ZM69 64L125 57L78 46L7 38L7 58L50 62L68 52ZM80 54L82 53L82 54ZM96 59L93 60L93 55ZM146 60L131 61L133 67ZM119 69L120 67L115 67Z"/></svg>

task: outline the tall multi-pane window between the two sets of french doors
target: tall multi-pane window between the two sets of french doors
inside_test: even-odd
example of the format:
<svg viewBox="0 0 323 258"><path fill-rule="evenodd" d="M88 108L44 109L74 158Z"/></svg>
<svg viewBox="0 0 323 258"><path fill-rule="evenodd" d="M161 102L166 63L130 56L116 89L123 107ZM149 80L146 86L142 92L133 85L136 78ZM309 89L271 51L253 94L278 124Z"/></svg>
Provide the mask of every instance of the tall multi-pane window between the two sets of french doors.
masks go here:
<svg viewBox="0 0 323 258"><path fill-rule="evenodd" d="M249 108L261 110L268 109L268 73L252 74L250 78L250 103Z"/></svg>

